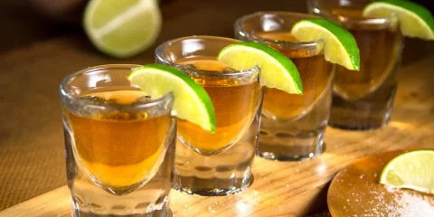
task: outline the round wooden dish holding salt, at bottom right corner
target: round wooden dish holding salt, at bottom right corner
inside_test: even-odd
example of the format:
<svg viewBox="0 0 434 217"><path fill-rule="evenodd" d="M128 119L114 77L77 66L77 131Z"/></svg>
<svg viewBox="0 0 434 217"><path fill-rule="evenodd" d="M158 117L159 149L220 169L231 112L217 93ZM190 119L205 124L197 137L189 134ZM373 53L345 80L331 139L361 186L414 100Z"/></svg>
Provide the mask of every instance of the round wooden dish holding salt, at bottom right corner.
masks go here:
<svg viewBox="0 0 434 217"><path fill-rule="evenodd" d="M382 169L403 151L365 156L347 165L335 176L327 193L334 217L346 216L432 216L434 194L410 189L394 190L379 184Z"/></svg>

